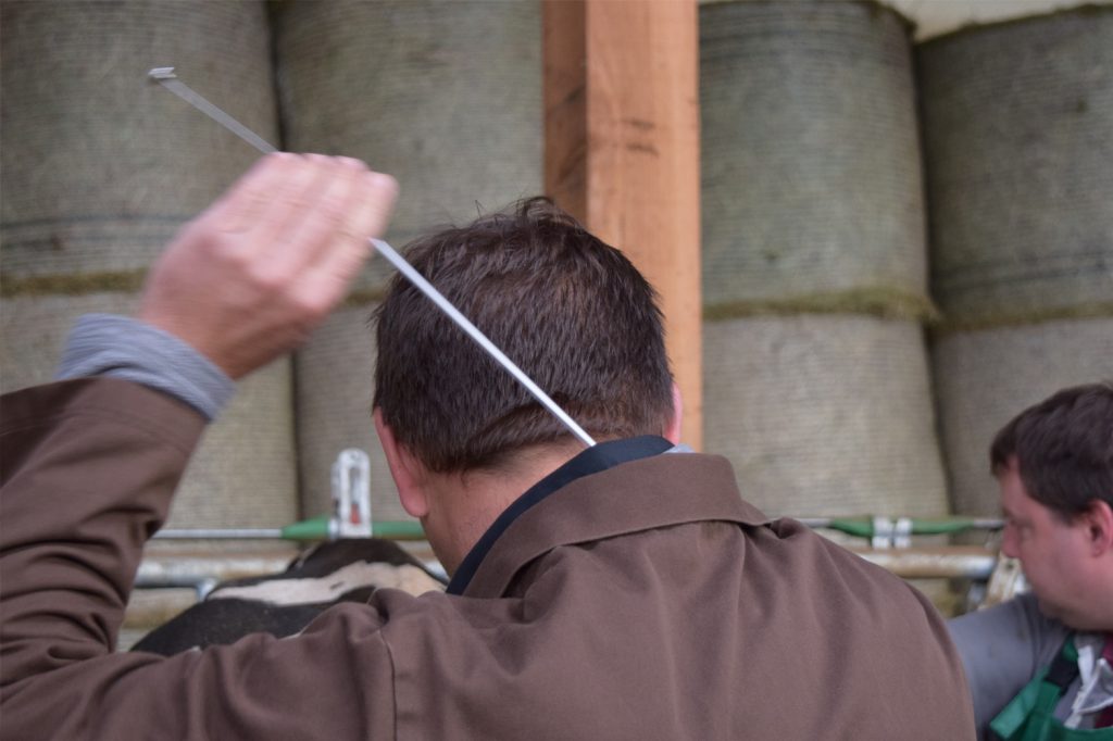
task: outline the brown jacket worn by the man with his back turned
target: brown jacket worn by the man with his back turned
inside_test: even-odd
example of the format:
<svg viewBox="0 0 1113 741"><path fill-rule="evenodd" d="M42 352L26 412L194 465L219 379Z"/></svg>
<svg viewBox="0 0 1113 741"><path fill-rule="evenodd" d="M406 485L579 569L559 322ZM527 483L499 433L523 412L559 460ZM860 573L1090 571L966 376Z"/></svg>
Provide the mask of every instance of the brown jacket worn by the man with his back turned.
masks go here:
<svg viewBox="0 0 1113 741"><path fill-rule="evenodd" d="M112 652L144 541L201 433L111 379L3 401L4 739L967 739L923 597L664 454L509 524L463 595L393 590L302 634Z"/></svg>

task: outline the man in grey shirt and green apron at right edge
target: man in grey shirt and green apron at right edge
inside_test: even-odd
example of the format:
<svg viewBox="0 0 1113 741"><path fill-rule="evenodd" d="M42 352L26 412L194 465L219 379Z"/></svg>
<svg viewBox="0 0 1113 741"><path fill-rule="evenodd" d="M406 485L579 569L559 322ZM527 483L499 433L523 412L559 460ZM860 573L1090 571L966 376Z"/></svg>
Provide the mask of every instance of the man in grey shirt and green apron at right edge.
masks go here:
<svg viewBox="0 0 1113 741"><path fill-rule="evenodd" d="M997 433L989 463L1001 550L1032 591L951 622L978 732L1113 739L1113 384L1025 409Z"/></svg>

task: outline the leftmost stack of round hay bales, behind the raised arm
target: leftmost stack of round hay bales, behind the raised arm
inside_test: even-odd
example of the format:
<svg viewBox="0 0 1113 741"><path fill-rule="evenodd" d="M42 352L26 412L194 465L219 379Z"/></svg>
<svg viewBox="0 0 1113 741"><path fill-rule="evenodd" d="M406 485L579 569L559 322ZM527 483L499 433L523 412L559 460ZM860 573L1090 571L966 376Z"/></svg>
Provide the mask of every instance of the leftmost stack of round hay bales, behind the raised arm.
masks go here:
<svg viewBox="0 0 1113 741"><path fill-rule="evenodd" d="M2 4L0 386L52 378L73 320L130 314L176 229L256 158L146 80L157 66L274 138L265 8L234 3ZM206 433L170 524L295 520L289 362L242 384Z"/></svg>

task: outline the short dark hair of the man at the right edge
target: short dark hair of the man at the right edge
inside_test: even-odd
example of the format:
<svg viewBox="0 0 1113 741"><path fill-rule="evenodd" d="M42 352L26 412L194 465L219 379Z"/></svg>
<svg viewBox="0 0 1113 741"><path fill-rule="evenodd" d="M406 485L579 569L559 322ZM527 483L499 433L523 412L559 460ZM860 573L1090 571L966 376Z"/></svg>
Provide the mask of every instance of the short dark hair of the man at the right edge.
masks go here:
<svg viewBox="0 0 1113 741"><path fill-rule="evenodd" d="M989 448L993 474L1014 456L1028 495L1063 520L1094 500L1113 505L1113 383L1064 388L1018 414Z"/></svg>

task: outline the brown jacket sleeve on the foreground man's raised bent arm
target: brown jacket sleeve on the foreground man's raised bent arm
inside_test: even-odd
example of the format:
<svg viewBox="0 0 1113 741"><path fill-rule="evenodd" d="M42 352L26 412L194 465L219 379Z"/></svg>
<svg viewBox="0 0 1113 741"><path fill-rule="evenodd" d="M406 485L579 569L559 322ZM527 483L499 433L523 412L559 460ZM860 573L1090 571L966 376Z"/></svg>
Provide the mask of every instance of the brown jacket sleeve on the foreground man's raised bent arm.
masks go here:
<svg viewBox="0 0 1113 741"><path fill-rule="evenodd" d="M393 734L378 614L328 611L299 636L170 659L115 653L146 540L204 429L190 407L111 378L0 401L3 738Z"/></svg>

